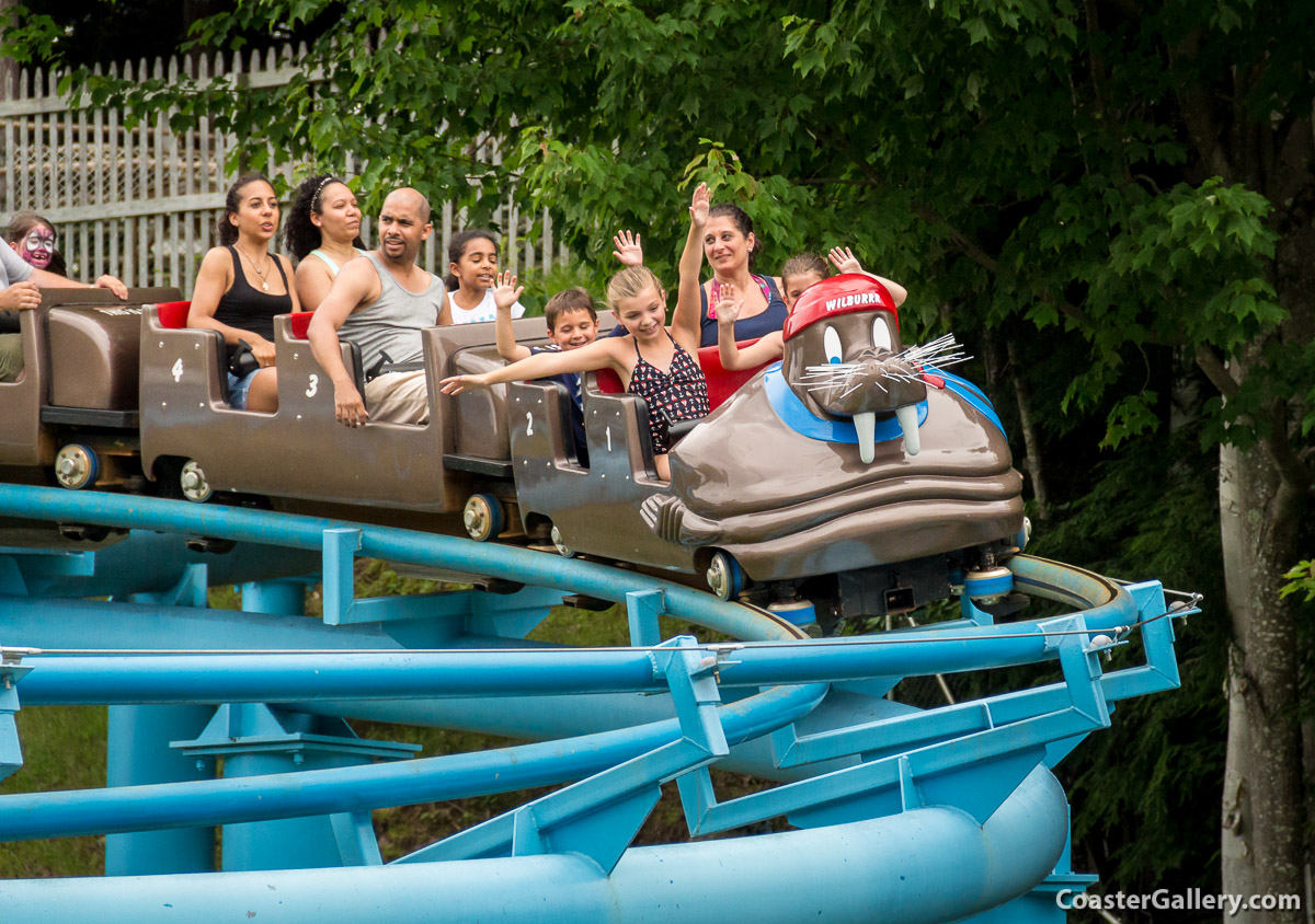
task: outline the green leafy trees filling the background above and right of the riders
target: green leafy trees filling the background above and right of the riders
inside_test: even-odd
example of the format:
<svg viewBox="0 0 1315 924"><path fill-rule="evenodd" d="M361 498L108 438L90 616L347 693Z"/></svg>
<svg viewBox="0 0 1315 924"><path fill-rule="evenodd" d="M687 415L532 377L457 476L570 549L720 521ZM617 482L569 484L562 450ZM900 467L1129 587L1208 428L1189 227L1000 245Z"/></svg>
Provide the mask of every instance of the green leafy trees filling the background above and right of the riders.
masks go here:
<svg viewBox="0 0 1315 924"><path fill-rule="evenodd" d="M1132 493L1147 517L1174 513L1162 499L1181 492L1131 492L1156 481L1127 472L1191 453L1164 431L1199 418L1197 444L1224 447L1236 481L1223 488L1240 499L1218 509L1231 637L1249 708L1268 710L1230 760L1251 748L1297 773L1299 595L1279 588L1310 540L1315 455L1315 5L238 0L193 41L239 47L326 21L284 87L122 85L85 70L68 85L171 112L175 127L210 118L251 139L255 167L267 143L276 160L329 167L350 150L372 204L406 181L485 221L515 184L600 268L610 230L634 227L669 276L688 188L707 180L753 216L767 268L847 243L909 285L905 339L949 327L978 354L1016 346L988 372L997 404L1010 379L1035 396L1034 472L1056 453L1052 477L1078 485L1098 444L1160 431L1119 476L1128 490L1102 498L1124 510ZM20 38L50 28L26 22ZM1208 468L1189 468L1208 486ZM1091 498L1120 484L1097 476ZM1086 494L1060 492L1066 515L1084 517ZM1089 522L1093 560L1107 555L1097 538L1127 538L1103 507ZM1264 631L1261 612L1277 620ZM1251 782L1248 862L1277 878L1231 891L1301 891L1301 783ZM1274 844L1270 827L1286 831Z"/></svg>

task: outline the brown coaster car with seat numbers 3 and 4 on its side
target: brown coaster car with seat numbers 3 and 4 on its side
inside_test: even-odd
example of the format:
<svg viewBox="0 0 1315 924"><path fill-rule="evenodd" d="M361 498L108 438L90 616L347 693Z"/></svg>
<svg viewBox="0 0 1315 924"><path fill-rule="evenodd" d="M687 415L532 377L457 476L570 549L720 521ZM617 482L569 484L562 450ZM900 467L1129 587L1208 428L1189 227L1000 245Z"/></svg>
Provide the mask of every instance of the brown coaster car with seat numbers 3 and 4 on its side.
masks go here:
<svg viewBox="0 0 1315 924"><path fill-rule="evenodd" d="M185 317L180 302L147 310L142 321L142 461L153 473L176 471L189 499L241 492L287 498L280 506L300 510L352 505L337 513L454 532L472 493L489 492L514 507L505 389L455 401L437 389L447 369L501 363L492 325L423 331L429 423L348 430L334 418L333 386L305 339L309 313L275 319L272 414L229 406L222 338L184 327ZM515 323L530 338L543 322ZM364 393L359 351L346 342L342 350Z"/></svg>

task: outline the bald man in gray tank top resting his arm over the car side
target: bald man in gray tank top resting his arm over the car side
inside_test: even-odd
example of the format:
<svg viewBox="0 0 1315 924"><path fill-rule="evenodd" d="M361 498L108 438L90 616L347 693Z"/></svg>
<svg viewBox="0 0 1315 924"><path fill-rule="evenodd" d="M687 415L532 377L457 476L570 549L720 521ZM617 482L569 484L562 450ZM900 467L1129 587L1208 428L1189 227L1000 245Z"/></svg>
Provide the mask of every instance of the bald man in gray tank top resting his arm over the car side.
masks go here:
<svg viewBox="0 0 1315 924"><path fill-rule="evenodd" d="M441 323L439 314L447 302L443 281L416 266L421 242L433 230L423 196L409 188L388 193L379 216L379 250L342 268L310 319L306 331L310 350L333 381L338 421L348 427L362 426L367 419L429 422L423 368L384 372L366 382L362 398L342 363L341 340L360 347L367 371L385 354L389 363L423 359L421 330Z"/></svg>

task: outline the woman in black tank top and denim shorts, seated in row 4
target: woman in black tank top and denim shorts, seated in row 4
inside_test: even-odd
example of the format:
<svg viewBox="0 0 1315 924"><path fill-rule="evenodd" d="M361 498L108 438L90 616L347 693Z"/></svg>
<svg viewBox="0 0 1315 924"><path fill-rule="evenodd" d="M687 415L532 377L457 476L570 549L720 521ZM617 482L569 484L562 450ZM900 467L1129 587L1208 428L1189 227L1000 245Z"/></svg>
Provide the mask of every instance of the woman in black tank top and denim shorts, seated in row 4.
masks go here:
<svg viewBox="0 0 1315 924"><path fill-rule="evenodd" d="M246 342L260 368L246 376L229 375L229 404L239 410L279 409L279 380L274 368L274 315L300 312L297 292L288 285L292 263L270 252L279 230L279 200L259 173L247 173L229 188L224 217L216 225L220 247L201 260L187 314L189 327L224 334L229 358Z"/></svg>

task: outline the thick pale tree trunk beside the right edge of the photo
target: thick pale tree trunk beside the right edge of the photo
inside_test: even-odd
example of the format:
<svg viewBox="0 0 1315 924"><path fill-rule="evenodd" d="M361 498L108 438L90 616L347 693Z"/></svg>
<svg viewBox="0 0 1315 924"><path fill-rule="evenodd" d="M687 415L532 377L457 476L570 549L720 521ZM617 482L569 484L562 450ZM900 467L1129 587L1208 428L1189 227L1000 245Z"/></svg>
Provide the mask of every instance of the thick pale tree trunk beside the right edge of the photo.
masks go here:
<svg viewBox="0 0 1315 924"><path fill-rule="evenodd" d="M1235 361L1236 367L1241 365ZM1279 601L1297 560L1304 490L1262 446L1219 451L1219 515L1233 639L1228 657L1223 891L1304 895L1306 804L1298 716L1297 620ZM1243 911L1237 924L1304 924L1306 912Z"/></svg>

